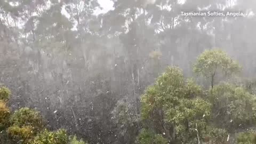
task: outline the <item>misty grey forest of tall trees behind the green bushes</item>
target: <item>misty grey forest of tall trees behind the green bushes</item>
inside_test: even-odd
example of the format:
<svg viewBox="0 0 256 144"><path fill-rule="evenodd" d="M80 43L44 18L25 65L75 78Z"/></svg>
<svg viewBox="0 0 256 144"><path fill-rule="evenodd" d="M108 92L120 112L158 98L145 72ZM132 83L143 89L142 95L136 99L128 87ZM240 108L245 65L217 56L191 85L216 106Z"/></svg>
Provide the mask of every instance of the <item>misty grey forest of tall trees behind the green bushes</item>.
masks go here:
<svg viewBox="0 0 256 144"><path fill-rule="evenodd" d="M181 15L199 10L244 16ZM167 66L193 76L196 57L218 47L255 77L255 11L253 0L0 0L0 85L12 110L35 108L50 129L132 143L138 132L117 124L115 108L140 113L141 94Z"/></svg>

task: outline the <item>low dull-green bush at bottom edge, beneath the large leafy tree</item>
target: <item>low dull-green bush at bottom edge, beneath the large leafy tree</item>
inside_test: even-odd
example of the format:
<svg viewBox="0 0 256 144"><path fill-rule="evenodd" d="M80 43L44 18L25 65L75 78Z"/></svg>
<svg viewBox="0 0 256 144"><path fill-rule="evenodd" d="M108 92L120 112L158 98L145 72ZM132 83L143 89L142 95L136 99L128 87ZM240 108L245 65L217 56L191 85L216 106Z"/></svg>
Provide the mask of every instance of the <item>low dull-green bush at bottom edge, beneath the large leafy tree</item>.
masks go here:
<svg viewBox="0 0 256 144"><path fill-rule="evenodd" d="M137 141L139 144L167 144L168 140L163 138L160 134L154 134L151 131L142 129Z"/></svg>

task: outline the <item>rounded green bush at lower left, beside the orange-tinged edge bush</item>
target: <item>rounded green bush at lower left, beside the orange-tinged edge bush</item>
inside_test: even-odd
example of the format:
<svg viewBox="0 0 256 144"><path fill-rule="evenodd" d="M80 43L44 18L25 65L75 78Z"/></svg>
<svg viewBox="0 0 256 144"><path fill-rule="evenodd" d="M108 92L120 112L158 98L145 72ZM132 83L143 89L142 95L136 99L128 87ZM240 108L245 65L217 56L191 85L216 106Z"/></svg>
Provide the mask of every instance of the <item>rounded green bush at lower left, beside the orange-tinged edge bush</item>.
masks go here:
<svg viewBox="0 0 256 144"><path fill-rule="evenodd" d="M36 110L29 108L21 108L14 111L10 118L10 123L17 126L33 126L33 131L43 130L43 116Z"/></svg>

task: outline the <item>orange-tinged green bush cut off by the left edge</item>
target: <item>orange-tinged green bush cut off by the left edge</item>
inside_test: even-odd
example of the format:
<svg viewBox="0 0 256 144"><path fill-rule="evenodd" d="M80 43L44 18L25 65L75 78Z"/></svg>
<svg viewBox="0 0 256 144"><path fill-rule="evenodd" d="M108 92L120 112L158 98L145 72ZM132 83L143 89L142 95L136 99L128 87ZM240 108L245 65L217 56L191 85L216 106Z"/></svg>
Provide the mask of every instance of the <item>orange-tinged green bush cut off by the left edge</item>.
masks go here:
<svg viewBox="0 0 256 144"><path fill-rule="evenodd" d="M9 123L10 110L6 103L0 100L0 131L7 127Z"/></svg>

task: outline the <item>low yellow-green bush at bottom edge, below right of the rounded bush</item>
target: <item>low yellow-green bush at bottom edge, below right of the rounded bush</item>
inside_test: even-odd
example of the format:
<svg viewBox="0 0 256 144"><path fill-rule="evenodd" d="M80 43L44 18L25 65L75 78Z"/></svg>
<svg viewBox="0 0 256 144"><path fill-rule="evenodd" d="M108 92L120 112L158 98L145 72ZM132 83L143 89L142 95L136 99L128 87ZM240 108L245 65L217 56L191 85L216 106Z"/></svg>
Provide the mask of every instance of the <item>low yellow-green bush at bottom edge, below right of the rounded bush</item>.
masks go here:
<svg viewBox="0 0 256 144"><path fill-rule="evenodd" d="M66 130L50 132L44 130L39 133L31 144L68 144L69 139Z"/></svg>

